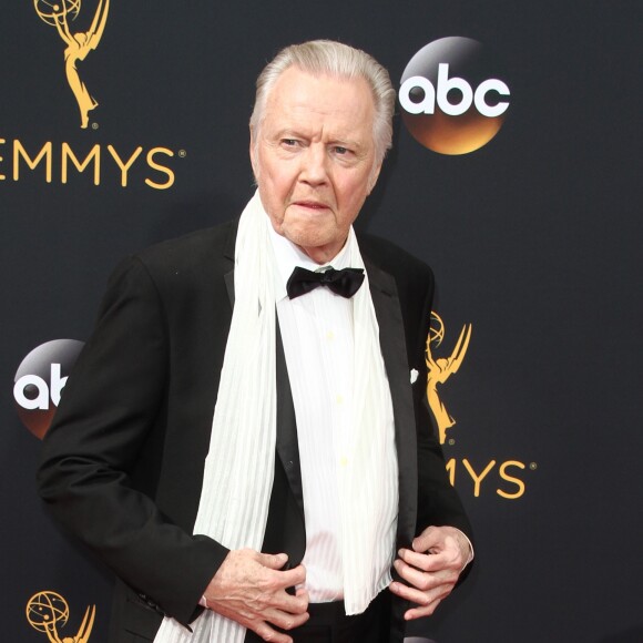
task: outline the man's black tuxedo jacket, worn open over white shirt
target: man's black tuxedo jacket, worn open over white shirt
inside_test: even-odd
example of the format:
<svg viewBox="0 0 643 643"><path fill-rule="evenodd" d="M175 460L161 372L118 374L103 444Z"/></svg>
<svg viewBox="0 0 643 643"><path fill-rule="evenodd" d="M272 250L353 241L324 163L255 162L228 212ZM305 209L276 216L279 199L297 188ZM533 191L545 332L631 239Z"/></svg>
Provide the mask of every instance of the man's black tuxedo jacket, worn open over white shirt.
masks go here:
<svg viewBox="0 0 643 643"><path fill-rule="evenodd" d="M154 246L116 268L44 440L41 497L120 579L114 643L153 640L163 614L188 624L227 553L192 529L232 319L235 237L236 223L225 224ZM409 547L429 524L470 535L425 401L431 272L382 239L359 244L395 412L397 547ZM302 479L277 344L275 482L263 551L285 551L294 567L305 550ZM419 377L411 385L414 368ZM394 599L391 643L402 640L405 609Z"/></svg>

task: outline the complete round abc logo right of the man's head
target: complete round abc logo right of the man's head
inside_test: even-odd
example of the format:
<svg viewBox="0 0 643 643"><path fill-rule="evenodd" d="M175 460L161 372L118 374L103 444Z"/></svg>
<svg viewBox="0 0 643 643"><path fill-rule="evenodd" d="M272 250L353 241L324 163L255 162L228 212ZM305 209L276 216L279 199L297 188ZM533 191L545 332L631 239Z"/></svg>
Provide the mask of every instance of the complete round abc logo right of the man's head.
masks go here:
<svg viewBox="0 0 643 643"><path fill-rule="evenodd" d="M499 132L510 91L497 65L470 38L441 38L407 64L399 89L405 125L425 147L467 154Z"/></svg>

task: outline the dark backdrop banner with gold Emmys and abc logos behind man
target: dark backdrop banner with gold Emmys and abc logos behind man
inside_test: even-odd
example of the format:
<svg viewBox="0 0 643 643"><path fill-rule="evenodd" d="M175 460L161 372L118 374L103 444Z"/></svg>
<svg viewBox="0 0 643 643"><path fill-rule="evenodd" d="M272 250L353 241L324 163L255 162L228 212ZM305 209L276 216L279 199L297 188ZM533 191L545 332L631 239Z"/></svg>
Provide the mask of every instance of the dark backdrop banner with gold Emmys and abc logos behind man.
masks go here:
<svg viewBox="0 0 643 643"><path fill-rule="evenodd" d="M427 398L477 534L469 580L409 635L643 641L642 18L639 0L6 2L2 640L105 641L113 580L43 511L40 440L112 267L241 213L255 78L329 38L398 91L358 227L436 273Z"/></svg>

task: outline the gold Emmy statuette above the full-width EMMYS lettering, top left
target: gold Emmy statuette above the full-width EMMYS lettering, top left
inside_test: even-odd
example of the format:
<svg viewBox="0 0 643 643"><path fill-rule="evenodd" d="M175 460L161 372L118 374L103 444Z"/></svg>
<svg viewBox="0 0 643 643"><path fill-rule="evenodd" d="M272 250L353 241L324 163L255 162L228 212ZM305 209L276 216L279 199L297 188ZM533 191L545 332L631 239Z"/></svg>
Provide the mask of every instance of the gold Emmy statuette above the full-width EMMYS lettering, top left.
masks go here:
<svg viewBox="0 0 643 643"><path fill-rule="evenodd" d="M73 21L78 18L81 10L81 0L33 0L33 7L43 22L55 27L58 34L67 44L64 50L64 71L81 113L81 127L84 129L89 124L89 113L99 103L81 81L76 63L79 60L83 61L88 53L99 45L108 20L110 0L99 0L89 31L75 33L71 32L69 23L70 20Z"/></svg>

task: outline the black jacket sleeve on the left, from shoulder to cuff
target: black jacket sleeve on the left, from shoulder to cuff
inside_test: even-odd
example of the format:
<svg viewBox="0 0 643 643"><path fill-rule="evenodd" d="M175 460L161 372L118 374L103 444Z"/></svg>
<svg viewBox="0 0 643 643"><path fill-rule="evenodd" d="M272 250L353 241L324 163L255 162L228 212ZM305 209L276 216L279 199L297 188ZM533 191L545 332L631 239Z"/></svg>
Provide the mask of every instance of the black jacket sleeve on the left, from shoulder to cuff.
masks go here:
<svg viewBox="0 0 643 643"><path fill-rule="evenodd" d="M227 550L173 523L152 500L154 482L137 482L164 430L169 354L156 285L140 259L126 259L45 436L38 486L63 529L185 624Z"/></svg>

